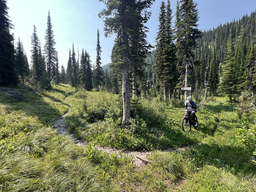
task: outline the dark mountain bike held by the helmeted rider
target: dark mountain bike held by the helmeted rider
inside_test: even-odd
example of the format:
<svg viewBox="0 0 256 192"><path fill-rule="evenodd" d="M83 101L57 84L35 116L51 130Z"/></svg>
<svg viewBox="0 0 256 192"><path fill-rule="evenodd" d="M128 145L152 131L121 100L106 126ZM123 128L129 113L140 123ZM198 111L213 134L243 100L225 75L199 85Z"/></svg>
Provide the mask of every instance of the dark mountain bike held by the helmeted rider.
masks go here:
<svg viewBox="0 0 256 192"><path fill-rule="evenodd" d="M185 115L181 120L181 128L184 132L190 132L191 125L193 125L194 128L198 127L198 120L197 120L196 114L195 114L195 121L193 121L193 117L191 114L192 111L195 111L195 109L181 111L181 112L185 112Z"/></svg>

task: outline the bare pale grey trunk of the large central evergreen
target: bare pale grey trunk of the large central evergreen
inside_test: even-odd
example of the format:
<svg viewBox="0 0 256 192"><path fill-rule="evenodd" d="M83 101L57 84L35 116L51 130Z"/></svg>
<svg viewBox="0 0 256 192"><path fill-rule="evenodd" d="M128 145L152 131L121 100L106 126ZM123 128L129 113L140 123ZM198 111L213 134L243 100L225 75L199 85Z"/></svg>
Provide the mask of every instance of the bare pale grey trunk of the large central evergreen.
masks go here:
<svg viewBox="0 0 256 192"><path fill-rule="evenodd" d="M122 128L125 128L125 125L131 116L128 55L129 55L129 52L127 49L125 49L123 51L124 64L122 68L122 92L123 92L123 107L124 107Z"/></svg>

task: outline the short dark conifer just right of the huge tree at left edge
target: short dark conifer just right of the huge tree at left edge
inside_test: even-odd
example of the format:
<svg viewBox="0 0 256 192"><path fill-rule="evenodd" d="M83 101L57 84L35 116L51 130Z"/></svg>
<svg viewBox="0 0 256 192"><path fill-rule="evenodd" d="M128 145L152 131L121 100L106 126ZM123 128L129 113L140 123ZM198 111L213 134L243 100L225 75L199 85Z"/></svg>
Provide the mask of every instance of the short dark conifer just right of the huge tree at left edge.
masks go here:
<svg viewBox="0 0 256 192"><path fill-rule="evenodd" d="M18 38L17 47L15 50L15 69L21 77L23 90L25 89L25 77L29 75L28 58L24 51L23 45Z"/></svg>

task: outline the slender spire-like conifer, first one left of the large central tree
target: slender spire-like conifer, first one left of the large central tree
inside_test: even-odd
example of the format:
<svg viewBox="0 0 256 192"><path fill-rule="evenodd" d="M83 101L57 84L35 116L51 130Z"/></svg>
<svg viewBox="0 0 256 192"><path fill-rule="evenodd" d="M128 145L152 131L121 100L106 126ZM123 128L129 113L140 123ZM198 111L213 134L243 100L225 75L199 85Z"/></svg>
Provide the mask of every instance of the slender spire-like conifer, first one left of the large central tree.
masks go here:
<svg viewBox="0 0 256 192"><path fill-rule="evenodd" d="M104 71L101 68L101 47L100 47L100 33L97 31L97 48L96 48L96 65L94 69L94 86L99 91L99 86L103 83Z"/></svg>

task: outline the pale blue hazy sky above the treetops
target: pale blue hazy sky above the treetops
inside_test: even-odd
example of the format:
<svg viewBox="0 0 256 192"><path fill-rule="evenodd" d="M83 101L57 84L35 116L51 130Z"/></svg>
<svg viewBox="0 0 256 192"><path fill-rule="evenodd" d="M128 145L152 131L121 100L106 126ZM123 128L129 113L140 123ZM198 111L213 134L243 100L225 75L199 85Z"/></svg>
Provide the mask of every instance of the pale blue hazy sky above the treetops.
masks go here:
<svg viewBox="0 0 256 192"><path fill-rule="evenodd" d="M164 0L167 2L167 0ZM158 15L161 0L156 0L152 8L152 15L147 23L149 27L148 41L155 45L158 28ZM177 0L171 0L173 14ZM250 14L256 9L256 0L196 0L199 10L199 28L209 29L217 27L233 19L241 18L246 12ZM96 60L97 29L100 31L101 62L105 65L111 62L110 55L115 35L104 37L104 22L98 13L105 7L98 0L7 0L9 16L14 25L15 42L20 36L25 51L30 60L33 25L36 25L37 35L44 46L44 36L48 10L50 10L56 50L59 53L60 66L65 68L68 62L68 52L74 43L76 57L86 49L91 56L92 64Z"/></svg>

